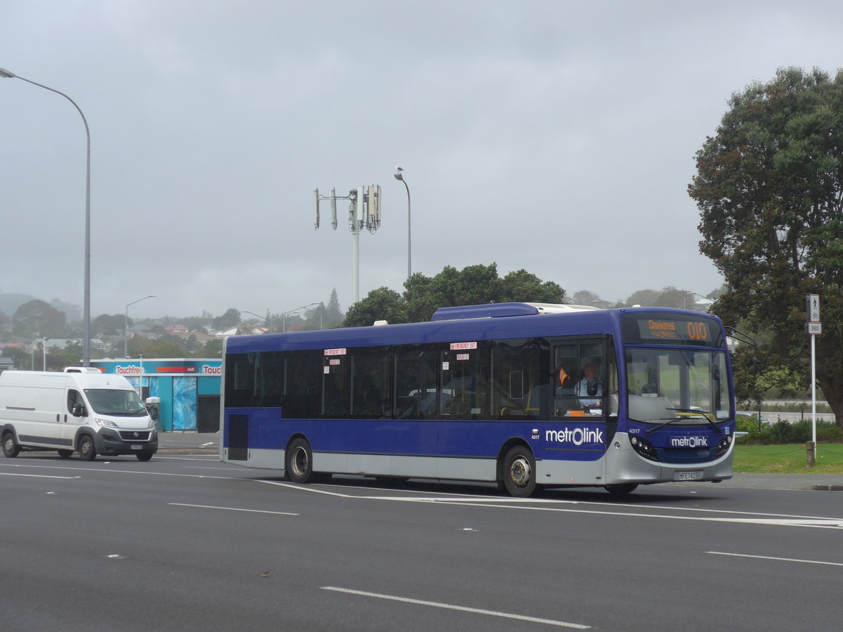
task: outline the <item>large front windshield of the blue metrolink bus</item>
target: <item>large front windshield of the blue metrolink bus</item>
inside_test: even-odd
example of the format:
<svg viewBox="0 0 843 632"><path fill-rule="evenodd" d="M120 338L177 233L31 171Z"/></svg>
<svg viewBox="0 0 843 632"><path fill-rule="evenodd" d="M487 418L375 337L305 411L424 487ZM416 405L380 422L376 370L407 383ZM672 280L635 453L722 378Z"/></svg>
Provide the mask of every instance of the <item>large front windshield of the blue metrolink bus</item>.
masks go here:
<svg viewBox="0 0 843 632"><path fill-rule="evenodd" d="M687 348L626 349L629 417L659 423L725 421L730 416L724 351Z"/></svg>

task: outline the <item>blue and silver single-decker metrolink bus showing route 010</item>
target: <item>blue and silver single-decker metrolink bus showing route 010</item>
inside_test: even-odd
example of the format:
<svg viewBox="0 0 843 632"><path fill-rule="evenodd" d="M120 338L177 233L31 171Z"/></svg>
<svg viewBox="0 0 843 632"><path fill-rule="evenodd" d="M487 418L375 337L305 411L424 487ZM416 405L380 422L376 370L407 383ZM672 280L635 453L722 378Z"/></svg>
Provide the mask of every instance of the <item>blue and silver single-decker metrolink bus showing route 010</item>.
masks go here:
<svg viewBox="0 0 843 632"><path fill-rule="evenodd" d="M283 470L541 486L732 477L720 319L543 303L440 308L431 322L232 336L220 458Z"/></svg>

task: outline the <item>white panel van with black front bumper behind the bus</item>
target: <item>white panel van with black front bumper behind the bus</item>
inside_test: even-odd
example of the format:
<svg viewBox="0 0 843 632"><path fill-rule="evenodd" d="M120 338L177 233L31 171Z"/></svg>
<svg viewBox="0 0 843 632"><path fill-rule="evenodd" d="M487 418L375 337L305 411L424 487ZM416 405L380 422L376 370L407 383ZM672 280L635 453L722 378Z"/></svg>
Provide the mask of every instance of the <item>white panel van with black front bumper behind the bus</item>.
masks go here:
<svg viewBox="0 0 843 632"><path fill-rule="evenodd" d="M121 375L66 369L65 372L0 373L0 439L3 454L57 450L134 454L148 461L158 451L158 433L132 384Z"/></svg>

